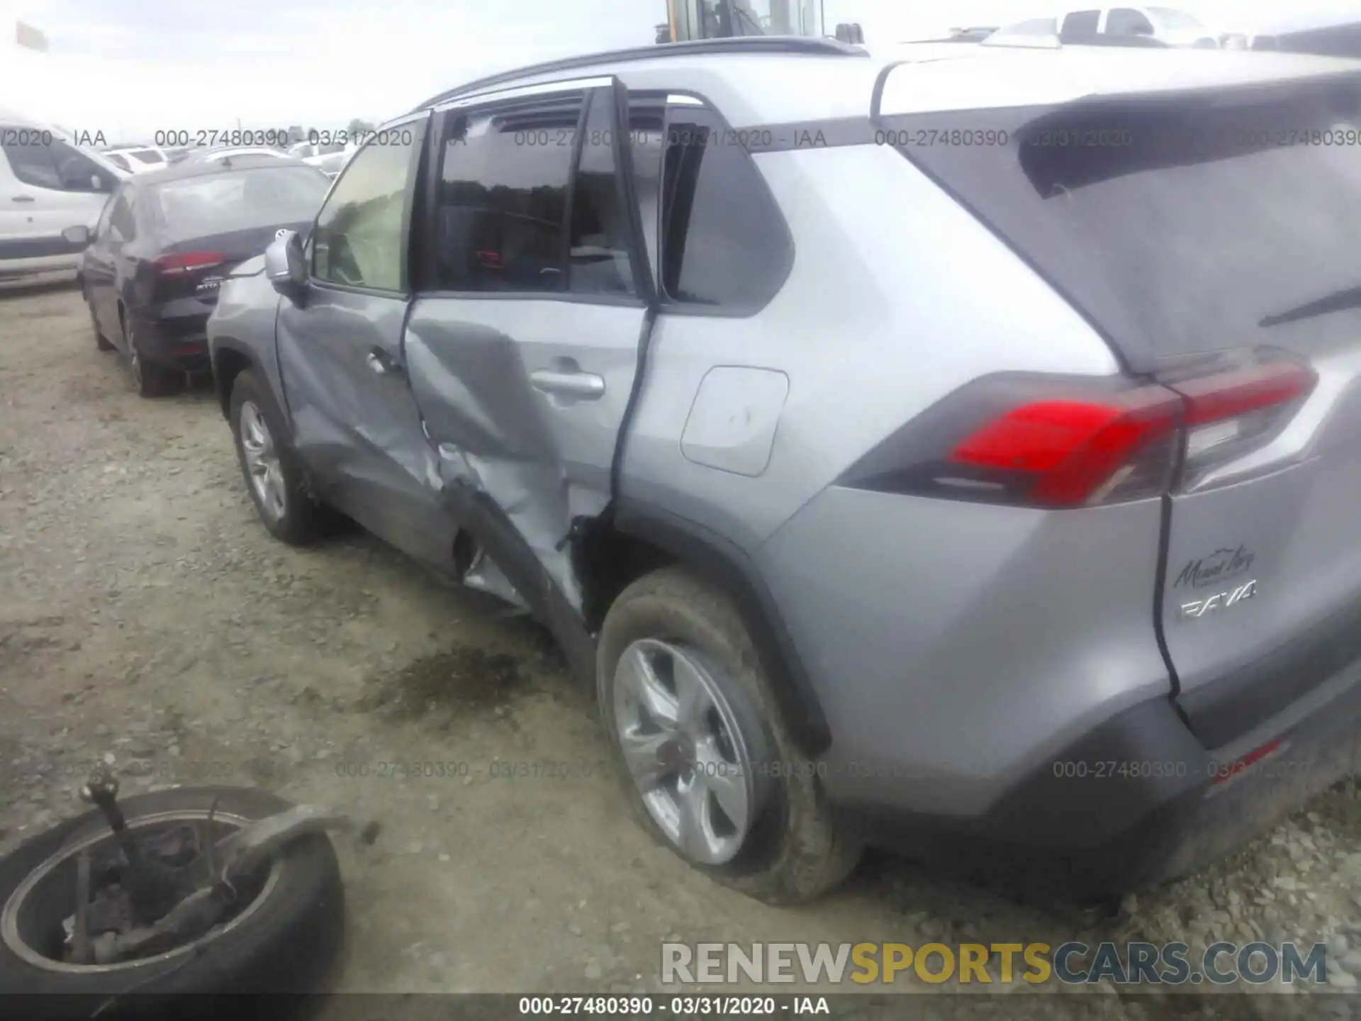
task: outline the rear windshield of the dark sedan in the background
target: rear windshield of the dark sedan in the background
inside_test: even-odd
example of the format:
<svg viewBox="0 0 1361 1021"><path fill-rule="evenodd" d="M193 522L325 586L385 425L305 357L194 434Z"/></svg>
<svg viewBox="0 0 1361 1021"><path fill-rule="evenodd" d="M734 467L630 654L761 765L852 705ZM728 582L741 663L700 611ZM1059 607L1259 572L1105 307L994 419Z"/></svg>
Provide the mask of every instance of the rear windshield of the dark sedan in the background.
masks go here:
<svg viewBox="0 0 1361 1021"><path fill-rule="evenodd" d="M309 221L329 187L309 166L271 166L166 181L152 195L167 231L189 238Z"/></svg>

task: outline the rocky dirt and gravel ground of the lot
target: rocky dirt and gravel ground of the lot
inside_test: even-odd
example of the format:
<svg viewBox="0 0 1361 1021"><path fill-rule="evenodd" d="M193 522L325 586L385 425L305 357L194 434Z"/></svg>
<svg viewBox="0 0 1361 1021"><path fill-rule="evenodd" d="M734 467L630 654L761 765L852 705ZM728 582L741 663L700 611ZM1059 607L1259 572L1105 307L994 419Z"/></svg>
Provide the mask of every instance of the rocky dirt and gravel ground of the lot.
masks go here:
<svg viewBox="0 0 1361 1021"><path fill-rule="evenodd" d="M11 289L0 852L79 811L73 791L98 757L128 791L255 783L378 824L372 845L338 840L347 991L659 990L667 937L1322 939L1328 990L1191 998L1104 983L1051 995L1017 983L1006 996L932 999L921 1016L1313 1018L1361 1001L1337 995L1361 977L1354 783L1104 922L891 856L799 909L708 882L630 820L591 700L534 625L362 534L310 550L272 540L211 392L140 400L118 357L95 351L78 293Z"/></svg>

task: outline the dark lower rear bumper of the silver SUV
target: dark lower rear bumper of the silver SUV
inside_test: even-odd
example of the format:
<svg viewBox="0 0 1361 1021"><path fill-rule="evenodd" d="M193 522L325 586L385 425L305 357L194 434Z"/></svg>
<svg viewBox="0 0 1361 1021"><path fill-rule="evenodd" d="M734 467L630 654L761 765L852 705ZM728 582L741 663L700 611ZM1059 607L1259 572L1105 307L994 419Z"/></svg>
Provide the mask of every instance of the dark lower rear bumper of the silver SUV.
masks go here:
<svg viewBox="0 0 1361 1021"><path fill-rule="evenodd" d="M1204 749L1170 701L1111 717L980 817L856 806L872 843L1077 896L1184 875L1260 836L1361 766L1361 683L1335 677L1270 724Z"/></svg>

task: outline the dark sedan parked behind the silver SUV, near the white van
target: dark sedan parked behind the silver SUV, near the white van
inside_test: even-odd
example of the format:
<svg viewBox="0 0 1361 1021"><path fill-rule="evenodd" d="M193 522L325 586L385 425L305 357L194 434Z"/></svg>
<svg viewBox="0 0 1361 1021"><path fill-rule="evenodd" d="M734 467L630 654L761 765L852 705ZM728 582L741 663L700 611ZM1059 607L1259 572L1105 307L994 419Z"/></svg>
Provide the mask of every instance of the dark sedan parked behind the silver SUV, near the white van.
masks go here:
<svg viewBox="0 0 1361 1021"><path fill-rule="evenodd" d="M137 392L208 370L204 327L227 272L280 230L306 230L331 180L297 159L185 162L121 182L87 241L78 280L101 351L128 358Z"/></svg>

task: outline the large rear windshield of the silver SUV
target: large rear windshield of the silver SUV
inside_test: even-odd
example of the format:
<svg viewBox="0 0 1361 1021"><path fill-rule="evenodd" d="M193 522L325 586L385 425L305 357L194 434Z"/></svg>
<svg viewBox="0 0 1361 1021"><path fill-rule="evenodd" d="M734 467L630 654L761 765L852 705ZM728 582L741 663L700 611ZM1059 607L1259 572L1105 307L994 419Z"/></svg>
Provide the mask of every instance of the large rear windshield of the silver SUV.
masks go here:
<svg viewBox="0 0 1361 1021"><path fill-rule="evenodd" d="M1258 344L1309 354L1361 344L1358 82L913 114L883 137L1130 368Z"/></svg>

